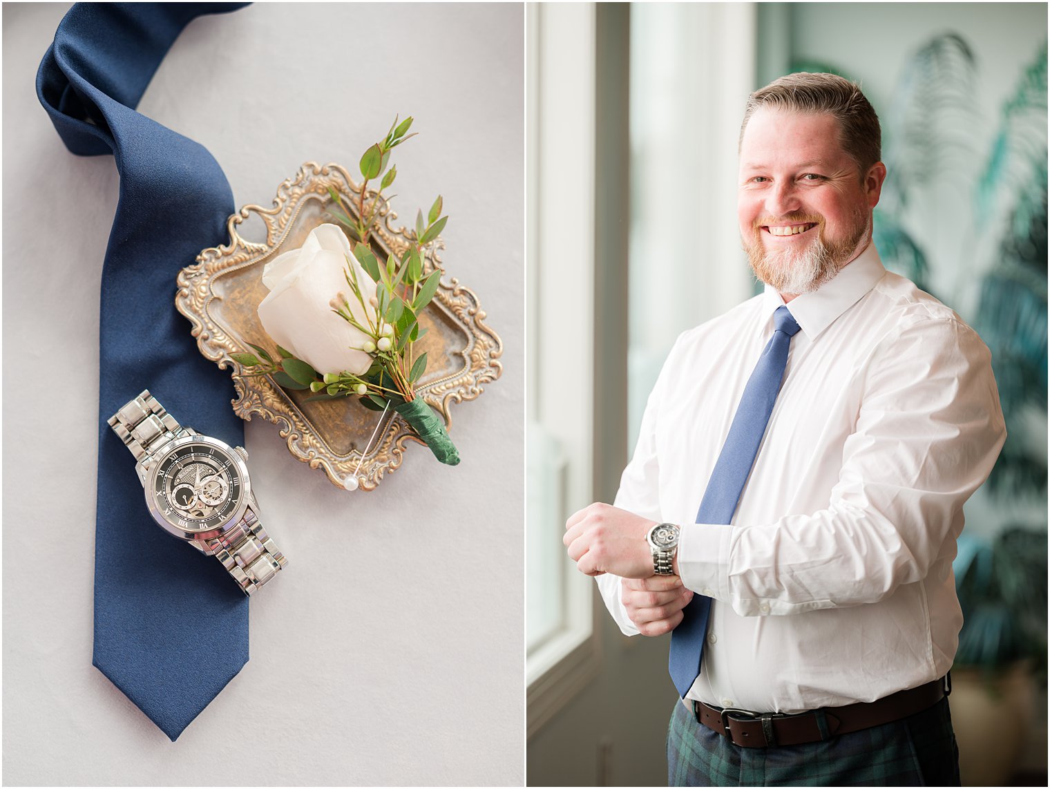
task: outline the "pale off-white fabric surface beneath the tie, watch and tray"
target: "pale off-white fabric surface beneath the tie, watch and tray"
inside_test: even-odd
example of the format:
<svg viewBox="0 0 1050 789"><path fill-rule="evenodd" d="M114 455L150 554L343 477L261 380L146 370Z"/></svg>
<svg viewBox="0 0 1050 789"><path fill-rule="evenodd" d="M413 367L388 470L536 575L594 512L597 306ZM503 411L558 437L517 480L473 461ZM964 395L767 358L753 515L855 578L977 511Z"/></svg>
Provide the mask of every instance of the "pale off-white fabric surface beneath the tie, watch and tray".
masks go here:
<svg viewBox="0 0 1050 789"><path fill-rule="evenodd" d="M505 344L503 377L453 407L455 469L413 445L376 492L340 492L274 425L246 424L291 564L252 600L251 661L176 743L91 666L99 284L118 174L111 157L71 155L37 101L66 7L3 6L4 784L520 785L522 6L203 17L140 105L214 154L238 207L268 205L308 160L356 168L395 113L415 116L396 207L411 224L444 195L447 270Z"/></svg>

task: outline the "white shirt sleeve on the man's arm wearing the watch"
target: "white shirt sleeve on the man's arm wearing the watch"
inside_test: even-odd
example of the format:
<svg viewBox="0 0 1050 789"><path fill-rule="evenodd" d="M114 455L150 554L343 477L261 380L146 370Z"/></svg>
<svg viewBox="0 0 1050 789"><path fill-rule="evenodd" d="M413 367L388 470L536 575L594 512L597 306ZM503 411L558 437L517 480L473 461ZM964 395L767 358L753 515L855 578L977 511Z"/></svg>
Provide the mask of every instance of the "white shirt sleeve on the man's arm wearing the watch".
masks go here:
<svg viewBox="0 0 1050 789"><path fill-rule="evenodd" d="M988 349L958 320L915 321L875 348L858 386L828 506L685 526L686 586L740 616L792 615L878 602L943 558L1006 438Z"/></svg>

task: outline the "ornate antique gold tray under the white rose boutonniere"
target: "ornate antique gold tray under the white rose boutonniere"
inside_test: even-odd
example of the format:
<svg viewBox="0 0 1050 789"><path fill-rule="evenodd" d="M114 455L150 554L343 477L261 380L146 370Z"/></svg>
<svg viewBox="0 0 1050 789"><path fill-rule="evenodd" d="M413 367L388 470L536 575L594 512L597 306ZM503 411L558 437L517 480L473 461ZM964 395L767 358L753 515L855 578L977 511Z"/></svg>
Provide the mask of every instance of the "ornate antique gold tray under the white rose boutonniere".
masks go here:
<svg viewBox="0 0 1050 789"><path fill-rule="evenodd" d="M309 390L281 389L270 376L243 376L240 364L230 356L251 351L250 342L276 352L256 314L267 294L262 267L281 252L301 246L318 225L338 224L326 211L332 203L330 187L350 207L356 205L354 195L360 196L360 186L339 165L320 167L307 162L294 178L277 187L272 208L250 205L230 216L229 245L205 249L196 264L178 273L175 308L192 323L201 353L219 369L232 369L238 395L233 410L238 416L250 420L258 414L276 424L293 456L312 469L323 469L329 480L340 487L355 475L360 461L356 475L359 486L371 491L383 474L401 465L407 443L422 443L393 409L377 430L379 412L369 411L356 398L308 401L313 396ZM238 227L253 216L266 226L265 243L248 241L239 232ZM381 259L391 252L401 255L410 231L394 228L397 214L388 206L379 216L373 249L382 253ZM440 241L433 246L444 247ZM453 402L472 400L482 393L483 383L500 377L503 342L484 324L485 313L474 291L455 277L446 278L436 253L429 253L423 265L427 273L440 270L442 278L437 294L420 315L420 325L429 332L417 347L426 351L428 362L416 391L437 409L447 428L452 425ZM376 438L369 447L374 431ZM450 431L449 436L456 440Z"/></svg>

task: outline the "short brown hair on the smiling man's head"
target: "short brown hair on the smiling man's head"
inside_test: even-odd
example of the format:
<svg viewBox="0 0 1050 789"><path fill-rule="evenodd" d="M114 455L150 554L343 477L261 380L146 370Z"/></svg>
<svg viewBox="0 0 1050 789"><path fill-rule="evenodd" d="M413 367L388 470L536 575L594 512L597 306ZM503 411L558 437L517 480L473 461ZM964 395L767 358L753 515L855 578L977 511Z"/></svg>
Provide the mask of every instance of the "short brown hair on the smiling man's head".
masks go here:
<svg viewBox="0 0 1050 789"><path fill-rule="evenodd" d="M830 115L839 123L839 143L857 163L863 175L882 160L882 127L879 116L860 85L834 74L799 71L774 80L748 97L740 126L743 131L755 110L766 107L806 115Z"/></svg>

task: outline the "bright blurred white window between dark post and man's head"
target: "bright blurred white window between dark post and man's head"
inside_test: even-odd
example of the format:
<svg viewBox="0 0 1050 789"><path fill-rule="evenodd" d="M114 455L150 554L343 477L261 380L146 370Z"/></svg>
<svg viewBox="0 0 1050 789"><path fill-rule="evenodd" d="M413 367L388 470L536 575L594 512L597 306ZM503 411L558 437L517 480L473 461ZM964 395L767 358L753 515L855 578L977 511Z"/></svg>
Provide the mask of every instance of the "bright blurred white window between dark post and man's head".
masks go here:
<svg viewBox="0 0 1050 789"><path fill-rule="evenodd" d="M751 3L632 3L629 445L675 337L753 294L736 145Z"/></svg>

